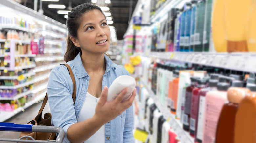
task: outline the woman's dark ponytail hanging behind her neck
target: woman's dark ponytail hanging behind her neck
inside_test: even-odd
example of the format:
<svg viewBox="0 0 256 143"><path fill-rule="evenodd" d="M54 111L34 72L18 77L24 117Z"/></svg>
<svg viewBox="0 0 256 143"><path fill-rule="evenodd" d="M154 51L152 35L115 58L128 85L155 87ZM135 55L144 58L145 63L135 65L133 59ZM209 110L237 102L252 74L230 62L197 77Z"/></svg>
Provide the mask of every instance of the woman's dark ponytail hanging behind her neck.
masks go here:
<svg viewBox="0 0 256 143"><path fill-rule="evenodd" d="M74 60L74 58L77 56L77 54L81 51L80 47L76 47L74 43L70 40L70 35L68 35L67 39L67 51L64 55L65 62Z"/></svg>

